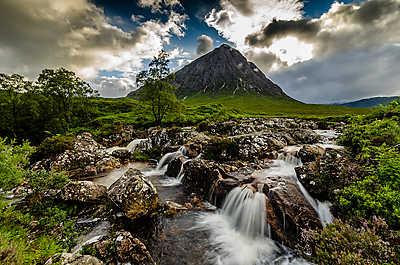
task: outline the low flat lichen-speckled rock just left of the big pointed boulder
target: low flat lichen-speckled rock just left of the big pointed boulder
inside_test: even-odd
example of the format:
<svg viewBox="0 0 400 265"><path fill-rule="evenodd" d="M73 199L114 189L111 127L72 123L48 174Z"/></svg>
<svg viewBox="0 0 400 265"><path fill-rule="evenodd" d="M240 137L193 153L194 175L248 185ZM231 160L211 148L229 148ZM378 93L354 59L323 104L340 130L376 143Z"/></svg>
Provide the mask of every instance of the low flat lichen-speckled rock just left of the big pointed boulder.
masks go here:
<svg viewBox="0 0 400 265"><path fill-rule="evenodd" d="M60 192L64 201L97 202L107 197L107 188L92 181L71 181Z"/></svg>

